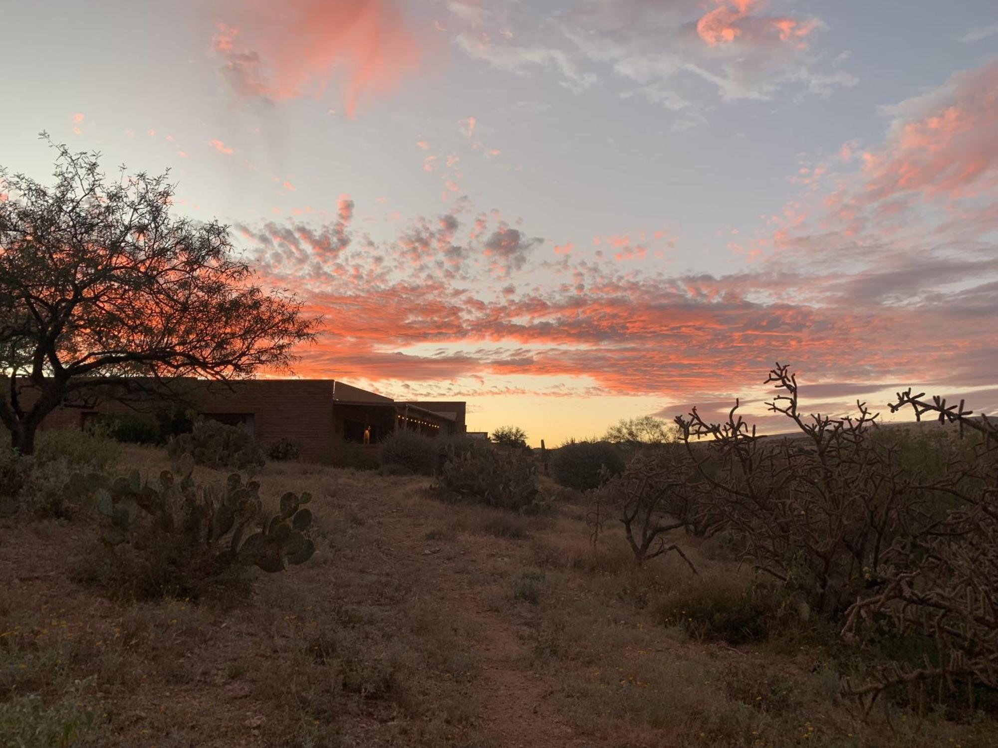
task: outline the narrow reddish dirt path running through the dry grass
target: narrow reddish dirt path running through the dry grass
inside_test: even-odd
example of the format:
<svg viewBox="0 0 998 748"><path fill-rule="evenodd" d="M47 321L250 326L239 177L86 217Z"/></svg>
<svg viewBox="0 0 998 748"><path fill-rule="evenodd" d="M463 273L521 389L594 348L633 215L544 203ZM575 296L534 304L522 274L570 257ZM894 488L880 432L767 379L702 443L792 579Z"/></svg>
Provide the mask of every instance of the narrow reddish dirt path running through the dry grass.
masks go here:
<svg viewBox="0 0 998 748"><path fill-rule="evenodd" d="M527 635L526 627L490 608L482 599L481 590L455 569L450 554L442 553L439 543L423 540L434 526L418 511L418 506L400 502L398 509L387 510L382 523L385 540L397 549L399 556L423 564L423 570L437 581L435 589L441 607L455 610L476 624L480 632L477 648L482 659L482 673L476 683L483 704L481 721L496 745L500 748L592 745L591 740L577 735L554 708L550 701L554 685L527 669L527 653L521 643ZM503 557L508 560L503 561L504 565L528 565L525 550L517 544L509 545L512 548L509 556ZM474 560L489 561L488 557Z"/></svg>

